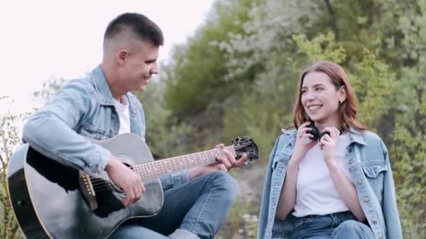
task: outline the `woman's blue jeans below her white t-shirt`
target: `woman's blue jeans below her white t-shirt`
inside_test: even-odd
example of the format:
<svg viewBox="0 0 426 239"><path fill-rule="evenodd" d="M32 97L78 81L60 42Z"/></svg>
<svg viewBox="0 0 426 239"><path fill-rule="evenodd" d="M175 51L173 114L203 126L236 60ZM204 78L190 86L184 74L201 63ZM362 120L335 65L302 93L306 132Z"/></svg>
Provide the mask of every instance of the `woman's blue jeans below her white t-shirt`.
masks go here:
<svg viewBox="0 0 426 239"><path fill-rule="evenodd" d="M357 222L351 212L329 215L298 217L294 223L293 239L370 239L374 238L370 227Z"/></svg>

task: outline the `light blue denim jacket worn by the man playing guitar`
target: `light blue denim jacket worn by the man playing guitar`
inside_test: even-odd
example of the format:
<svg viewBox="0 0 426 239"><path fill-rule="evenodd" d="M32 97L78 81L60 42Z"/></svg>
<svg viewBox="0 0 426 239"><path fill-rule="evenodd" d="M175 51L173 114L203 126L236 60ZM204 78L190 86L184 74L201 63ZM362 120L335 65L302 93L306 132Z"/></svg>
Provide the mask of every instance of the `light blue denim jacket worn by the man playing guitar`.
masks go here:
<svg viewBox="0 0 426 239"><path fill-rule="evenodd" d="M130 92L130 131L145 140L144 109ZM101 66L69 81L54 99L29 117L22 139L41 154L89 174L104 171L111 153L81 136L104 140L116 136L120 122ZM163 189L189 180L188 171L161 179Z"/></svg>

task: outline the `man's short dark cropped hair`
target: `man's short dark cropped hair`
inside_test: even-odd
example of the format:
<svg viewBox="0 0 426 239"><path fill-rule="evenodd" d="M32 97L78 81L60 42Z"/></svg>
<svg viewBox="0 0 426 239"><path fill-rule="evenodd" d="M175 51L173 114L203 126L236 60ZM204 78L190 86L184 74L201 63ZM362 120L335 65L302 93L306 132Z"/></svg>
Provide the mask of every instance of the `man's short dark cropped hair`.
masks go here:
<svg viewBox="0 0 426 239"><path fill-rule="evenodd" d="M140 41L151 41L153 45L163 45L163 31L158 25L140 13L123 13L109 22L104 33L104 41L114 38L126 29L130 29Z"/></svg>

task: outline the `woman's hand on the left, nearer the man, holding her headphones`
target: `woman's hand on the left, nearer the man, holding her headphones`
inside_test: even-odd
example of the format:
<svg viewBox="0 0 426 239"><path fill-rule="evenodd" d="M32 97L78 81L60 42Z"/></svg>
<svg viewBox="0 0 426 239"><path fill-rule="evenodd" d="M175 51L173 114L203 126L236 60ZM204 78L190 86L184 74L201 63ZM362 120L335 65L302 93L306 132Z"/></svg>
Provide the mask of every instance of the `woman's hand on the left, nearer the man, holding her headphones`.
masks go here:
<svg viewBox="0 0 426 239"><path fill-rule="evenodd" d="M296 145L294 146L290 162L298 164L301 159L303 159L303 156L305 156L306 152L308 152L308 150L317 144L316 140L312 140L311 142L307 143L308 140L313 137L312 134L309 133L312 130L310 127L308 127L310 124L310 122L305 122L298 127Z"/></svg>

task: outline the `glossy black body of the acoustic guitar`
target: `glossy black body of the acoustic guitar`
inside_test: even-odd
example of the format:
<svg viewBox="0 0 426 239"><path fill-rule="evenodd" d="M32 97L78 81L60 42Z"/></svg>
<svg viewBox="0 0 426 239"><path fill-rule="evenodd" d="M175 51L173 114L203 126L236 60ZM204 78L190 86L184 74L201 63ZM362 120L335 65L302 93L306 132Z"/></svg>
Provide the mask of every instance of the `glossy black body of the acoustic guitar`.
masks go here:
<svg viewBox="0 0 426 239"><path fill-rule="evenodd" d="M153 161L144 141L132 133L91 141L129 166ZM27 144L13 154L7 172L13 211L27 238L107 238L126 219L156 215L163 206L159 179L144 180L146 193L124 208L125 195L105 183L107 173L92 177L86 188L80 171ZM95 191L96 209L90 207L85 189Z"/></svg>

